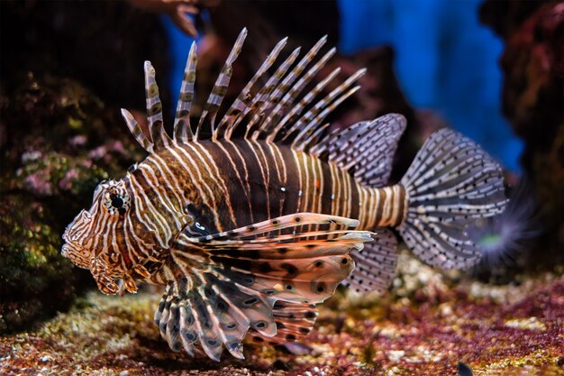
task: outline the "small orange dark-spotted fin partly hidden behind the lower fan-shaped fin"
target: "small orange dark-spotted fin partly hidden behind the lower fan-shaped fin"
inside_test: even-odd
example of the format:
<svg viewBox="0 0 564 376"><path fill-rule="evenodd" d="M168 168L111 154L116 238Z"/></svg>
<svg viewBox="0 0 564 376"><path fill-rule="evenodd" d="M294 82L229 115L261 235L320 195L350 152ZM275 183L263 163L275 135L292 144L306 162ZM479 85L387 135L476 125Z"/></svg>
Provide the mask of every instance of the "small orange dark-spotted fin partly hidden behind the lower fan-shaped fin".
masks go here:
<svg viewBox="0 0 564 376"><path fill-rule="evenodd" d="M260 333L253 333L251 339L258 344L265 342L287 344L301 341L314 329L317 315L317 307L314 304L277 301L272 309L277 334L267 337Z"/></svg>

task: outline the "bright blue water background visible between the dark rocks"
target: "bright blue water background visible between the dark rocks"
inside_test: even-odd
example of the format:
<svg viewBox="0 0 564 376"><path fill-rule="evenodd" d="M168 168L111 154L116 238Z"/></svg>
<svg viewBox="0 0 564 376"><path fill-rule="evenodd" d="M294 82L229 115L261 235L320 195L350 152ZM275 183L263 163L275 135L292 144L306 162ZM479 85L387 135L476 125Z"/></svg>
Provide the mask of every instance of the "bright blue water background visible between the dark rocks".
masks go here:
<svg viewBox="0 0 564 376"><path fill-rule="evenodd" d="M519 172L523 142L501 114L503 43L478 21L481 0L340 0L343 54L382 44L396 51L395 70L407 100L431 109ZM177 100L193 41L163 17L170 38L170 83Z"/></svg>

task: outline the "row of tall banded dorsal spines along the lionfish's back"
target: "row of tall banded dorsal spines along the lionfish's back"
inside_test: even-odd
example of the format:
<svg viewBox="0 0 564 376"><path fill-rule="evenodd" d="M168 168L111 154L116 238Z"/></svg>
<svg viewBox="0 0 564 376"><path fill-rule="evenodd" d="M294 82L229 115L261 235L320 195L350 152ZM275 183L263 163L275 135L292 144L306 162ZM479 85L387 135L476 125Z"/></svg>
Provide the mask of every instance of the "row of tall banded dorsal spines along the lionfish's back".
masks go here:
<svg viewBox="0 0 564 376"><path fill-rule="evenodd" d="M204 111L200 116L196 131L193 133L190 127L190 110L194 100L194 84L196 80L196 44L192 44L186 69L182 81L182 87L177 103L177 113L174 123L174 142L186 143L197 142L202 139L202 131L209 126L212 140L225 138L229 140L233 131L239 124L244 124L247 120L245 138L257 140L266 139L267 142L287 142L290 143L289 135L297 134L292 147L297 150L307 151L315 143L319 142L323 136L323 119L348 96L352 95L358 87L351 85L364 74L365 69L360 69L353 76L345 80L339 87L314 103L323 88L332 79L336 78L339 69L318 83L314 89L302 96L305 87L311 82L314 76L323 68L327 60L335 53L335 49L326 52L323 57L316 61L309 69L307 66L314 60L327 41L327 36L319 40L314 47L309 50L305 57L300 60L292 69L292 65L299 55L299 48L294 50L277 70L268 78L262 87L256 87L259 79L267 74L268 69L275 63L280 51L286 45L287 39L279 41L275 48L270 52L268 58L263 62L257 73L250 79L248 84L242 89L240 95L227 110L219 125L215 126L215 117L223 98L227 92L227 87L232 77L232 64L241 52L242 44L247 36L247 30L243 29L235 41L229 57L223 65L223 69L215 81L212 93L207 99ZM305 70L307 69L307 70ZM159 99L159 87L155 80L155 69L150 61L145 62L145 87L147 96L147 117L149 120L150 138L141 132L141 127L132 118L132 115L123 110L123 117L141 146L153 152L161 148L166 148L172 144L172 140L165 133L162 118L162 105ZM304 73L305 72L305 73ZM304 73L304 74L303 74ZM252 93L257 93L253 96ZM302 96L300 98L300 96ZM304 114L307 107L310 107Z"/></svg>

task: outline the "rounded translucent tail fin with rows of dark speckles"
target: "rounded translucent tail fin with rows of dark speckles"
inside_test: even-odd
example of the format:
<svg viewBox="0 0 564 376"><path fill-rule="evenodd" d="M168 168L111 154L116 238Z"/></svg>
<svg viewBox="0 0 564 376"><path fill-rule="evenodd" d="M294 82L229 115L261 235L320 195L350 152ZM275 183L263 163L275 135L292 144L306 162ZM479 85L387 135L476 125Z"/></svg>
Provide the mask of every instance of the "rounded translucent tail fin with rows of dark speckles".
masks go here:
<svg viewBox="0 0 564 376"><path fill-rule="evenodd" d="M505 208L496 161L463 135L441 129L423 144L400 183L408 208L398 230L409 248L442 269L475 265L481 252L468 226Z"/></svg>

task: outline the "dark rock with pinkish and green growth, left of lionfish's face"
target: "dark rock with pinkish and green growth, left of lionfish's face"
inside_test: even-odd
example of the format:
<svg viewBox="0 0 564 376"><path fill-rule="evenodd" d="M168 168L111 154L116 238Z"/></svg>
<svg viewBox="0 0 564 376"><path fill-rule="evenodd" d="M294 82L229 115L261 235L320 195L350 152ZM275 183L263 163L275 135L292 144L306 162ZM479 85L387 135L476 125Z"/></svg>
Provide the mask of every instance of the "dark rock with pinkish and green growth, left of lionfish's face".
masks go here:
<svg viewBox="0 0 564 376"><path fill-rule="evenodd" d="M67 309L85 283L59 254L60 234L101 179L138 152L118 111L67 78L31 72L0 96L0 333ZM86 276L88 277L88 276ZM77 287L75 289L75 287Z"/></svg>

